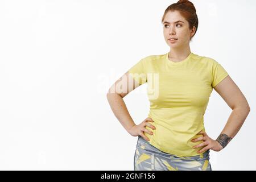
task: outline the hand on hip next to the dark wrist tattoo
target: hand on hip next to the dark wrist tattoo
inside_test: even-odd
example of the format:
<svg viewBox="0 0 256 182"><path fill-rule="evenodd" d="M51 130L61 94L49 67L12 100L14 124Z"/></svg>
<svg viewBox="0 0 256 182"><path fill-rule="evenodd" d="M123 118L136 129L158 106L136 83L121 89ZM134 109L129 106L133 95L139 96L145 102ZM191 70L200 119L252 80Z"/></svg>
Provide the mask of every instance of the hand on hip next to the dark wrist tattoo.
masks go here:
<svg viewBox="0 0 256 182"><path fill-rule="evenodd" d="M197 142L200 140L203 140L204 142L198 144L197 146L193 146L193 148L199 148L199 147L204 147L201 150L197 151L197 153L201 153L204 151L207 151L209 149L214 150L214 151L220 151L223 149L223 147L221 146L220 143L218 143L216 140L210 138L207 133L205 133L204 131L200 131L199 134L203 134L203 137L199 137L199 138L195 138L192 139L191 142ZM197 135L199 135L197 134Z"/></svg>

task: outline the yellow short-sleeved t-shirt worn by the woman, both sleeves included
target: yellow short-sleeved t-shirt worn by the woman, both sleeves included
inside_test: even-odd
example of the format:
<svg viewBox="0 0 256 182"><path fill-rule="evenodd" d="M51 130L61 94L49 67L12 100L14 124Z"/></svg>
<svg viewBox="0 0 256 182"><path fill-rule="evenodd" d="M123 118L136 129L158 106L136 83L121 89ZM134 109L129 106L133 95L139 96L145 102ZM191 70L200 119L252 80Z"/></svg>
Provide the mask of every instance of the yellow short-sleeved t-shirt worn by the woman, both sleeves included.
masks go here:
<svg viewBox="0 0 256 182"><path fill-rule="evenodd" d="M150 144L168 154L199 155L201 148L191 142L204 128L204 113L213 87L228 73L216 60L190 53L183 61L174 62L164 55L144 57L129 69L134 80L147 83L150 111L147 117L156 127L154 135L144 134Z"/></svg>

